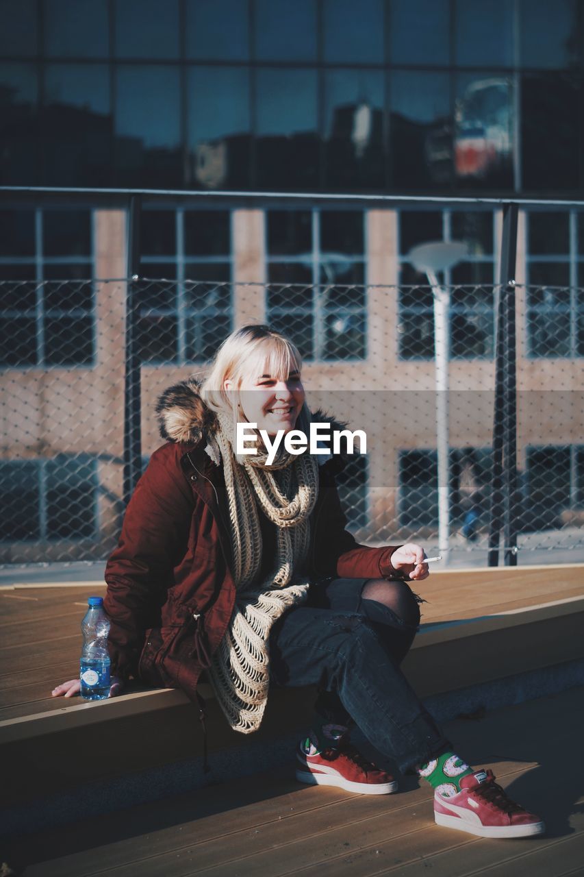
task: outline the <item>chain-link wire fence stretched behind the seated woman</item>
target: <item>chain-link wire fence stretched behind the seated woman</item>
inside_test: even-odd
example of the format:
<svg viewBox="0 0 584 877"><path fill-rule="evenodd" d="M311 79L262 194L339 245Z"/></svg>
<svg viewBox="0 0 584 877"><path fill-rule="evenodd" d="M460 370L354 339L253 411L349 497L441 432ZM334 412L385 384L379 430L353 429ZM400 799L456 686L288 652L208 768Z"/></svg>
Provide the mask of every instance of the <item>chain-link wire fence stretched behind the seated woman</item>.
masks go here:
<svg viewBox="0 0 584 877"><path fill-rule="evenodd" d="M500 289L440 291L444 332L428 285L0 282L0 560L105 558L124 514L128 447L139 454L136 474L160 445L158 396L202 377L232 329L262 322L303 354L311 410L367 434L367 453L347 455L338 475L357 537L417 540L451 560L486 562ZM517 286L514 299L516 351L503 358L516 367L516 545L522 560L581 560L584 406L574 369L584 290ZM448 367L437 384L441 357Z"/></svg>

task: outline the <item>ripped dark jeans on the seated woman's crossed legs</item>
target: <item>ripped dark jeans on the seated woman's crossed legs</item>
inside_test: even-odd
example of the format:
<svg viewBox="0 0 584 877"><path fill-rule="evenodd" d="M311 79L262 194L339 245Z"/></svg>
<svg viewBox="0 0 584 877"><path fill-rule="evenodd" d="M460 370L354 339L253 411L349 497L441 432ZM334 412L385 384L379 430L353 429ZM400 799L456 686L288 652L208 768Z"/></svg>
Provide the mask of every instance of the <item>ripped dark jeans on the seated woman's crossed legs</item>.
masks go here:
<svg viewBox="0 0 584 877"><path fill-rule="evenodd" d="M353 719L403 771L452 746L400 669L417 624L362 599L367 581L328 579L310 586L309 601L274 624L270 679L277 686L317 685L317 713L335 724Z"/></svg>

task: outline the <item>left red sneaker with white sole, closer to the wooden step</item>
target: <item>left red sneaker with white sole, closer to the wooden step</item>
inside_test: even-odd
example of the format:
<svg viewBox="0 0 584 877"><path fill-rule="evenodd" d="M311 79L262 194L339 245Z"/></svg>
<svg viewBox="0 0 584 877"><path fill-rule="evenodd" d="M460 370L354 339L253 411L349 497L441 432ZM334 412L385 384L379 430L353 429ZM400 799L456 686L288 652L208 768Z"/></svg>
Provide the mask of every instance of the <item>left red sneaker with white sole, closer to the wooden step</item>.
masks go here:
<svg viewBox="0 0 584 877"><path fill-rule="evenodd" d="M348 743L313 755L304 752L300 743L296 759L299 762L296 780L310 786L338 786L361 795L388 795L397 789L393 776L367 761L355 746Z"/></svg>

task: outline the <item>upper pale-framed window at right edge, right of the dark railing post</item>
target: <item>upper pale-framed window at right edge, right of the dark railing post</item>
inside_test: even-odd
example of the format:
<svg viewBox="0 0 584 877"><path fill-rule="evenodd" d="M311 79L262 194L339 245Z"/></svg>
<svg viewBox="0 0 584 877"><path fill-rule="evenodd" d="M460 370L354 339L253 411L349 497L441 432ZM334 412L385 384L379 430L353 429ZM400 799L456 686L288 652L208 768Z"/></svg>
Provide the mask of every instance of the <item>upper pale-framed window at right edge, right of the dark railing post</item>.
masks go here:
<svg viewBox="0 0 584 877"><path fill-rule="evenodd" d="M534 358L584 356L584 214L527 214L527 350Z"/></svg>

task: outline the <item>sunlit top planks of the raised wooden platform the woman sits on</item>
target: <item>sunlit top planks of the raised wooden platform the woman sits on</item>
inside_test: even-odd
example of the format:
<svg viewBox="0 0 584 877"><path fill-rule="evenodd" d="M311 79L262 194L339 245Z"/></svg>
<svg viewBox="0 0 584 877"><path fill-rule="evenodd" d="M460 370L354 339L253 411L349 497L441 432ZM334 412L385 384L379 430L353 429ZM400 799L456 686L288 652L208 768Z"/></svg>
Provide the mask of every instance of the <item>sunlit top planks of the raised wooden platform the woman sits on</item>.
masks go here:
<svg viewBox="0 0 584 877"><path fill-rule="evenodd" d="M436 572L417 585L424 628L584 597L584 565ZM103 584L0 588L0 723L70 704L52 688L79 672L87 597ZM74 702L79 702L75 698Z"/></svg>

